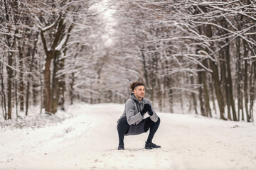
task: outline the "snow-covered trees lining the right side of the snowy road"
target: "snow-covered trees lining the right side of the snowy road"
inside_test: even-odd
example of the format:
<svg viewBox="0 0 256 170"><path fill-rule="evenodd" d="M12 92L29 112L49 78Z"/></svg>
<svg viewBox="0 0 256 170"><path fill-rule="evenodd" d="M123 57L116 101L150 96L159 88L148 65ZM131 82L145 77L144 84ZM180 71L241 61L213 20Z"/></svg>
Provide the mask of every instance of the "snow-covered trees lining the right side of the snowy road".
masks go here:
<svg viewBox="0 0 256 170"><path fill-rule="evenodd" d="M119 49L159 109L253 121L255 1L118 2Z"/></svg>

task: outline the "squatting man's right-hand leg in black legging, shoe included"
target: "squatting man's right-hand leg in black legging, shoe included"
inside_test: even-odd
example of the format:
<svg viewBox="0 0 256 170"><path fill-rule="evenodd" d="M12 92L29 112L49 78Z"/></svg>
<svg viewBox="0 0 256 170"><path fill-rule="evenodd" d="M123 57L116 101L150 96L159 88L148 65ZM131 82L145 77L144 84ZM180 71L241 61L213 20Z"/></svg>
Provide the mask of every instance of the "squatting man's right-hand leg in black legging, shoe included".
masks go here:
<svg viewBox="0 0 256 170"><path fill-rule="evenodd" d="M146 140L146 144L149 144L149 147L152 147L152 148L160 147L157 145L153 145L153 143L152 143L153 137L156 133L156 130L159 128L159 125L160 125L160 118L158 118L156 123L154 121L152 121L150 118L146 118L146 122L144 125L144 131L147 132L149 130L149 137ZM151 144L152 144L152 146L151 146ZM151 149L151 148L149 148L149 149Z"/></svg>

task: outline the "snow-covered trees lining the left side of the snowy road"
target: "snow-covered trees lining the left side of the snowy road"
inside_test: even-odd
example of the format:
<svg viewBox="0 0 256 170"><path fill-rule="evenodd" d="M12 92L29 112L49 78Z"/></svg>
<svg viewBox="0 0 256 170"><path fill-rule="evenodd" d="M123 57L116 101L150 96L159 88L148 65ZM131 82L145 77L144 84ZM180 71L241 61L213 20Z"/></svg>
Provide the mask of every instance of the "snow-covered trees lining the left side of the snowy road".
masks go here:
<svg viewBox="0 0 256 170"><path fill-rule="evenodd" d="M93 102L105 57L98 1L0 1L1 112L53 114L65 101ZM88 92L89 91L89 92ZM105 92L105 91L103 91Z"/></svg>

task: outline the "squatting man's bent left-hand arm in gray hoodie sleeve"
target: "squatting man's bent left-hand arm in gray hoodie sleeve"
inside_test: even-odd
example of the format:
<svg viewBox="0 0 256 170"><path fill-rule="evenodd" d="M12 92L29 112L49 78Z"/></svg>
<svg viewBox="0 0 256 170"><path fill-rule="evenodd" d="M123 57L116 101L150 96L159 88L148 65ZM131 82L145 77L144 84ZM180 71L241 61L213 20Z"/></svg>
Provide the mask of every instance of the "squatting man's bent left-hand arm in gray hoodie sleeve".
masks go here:
<svg viewBox="0 0 256 170"><path fill-rule="evenodd" d="M129 125L132 125L138 120L142 119L141 113L135 113L134 103L132 103L132 101L128 100L127 103L125 103L125 111L127 116L127 123Z"/></svg>

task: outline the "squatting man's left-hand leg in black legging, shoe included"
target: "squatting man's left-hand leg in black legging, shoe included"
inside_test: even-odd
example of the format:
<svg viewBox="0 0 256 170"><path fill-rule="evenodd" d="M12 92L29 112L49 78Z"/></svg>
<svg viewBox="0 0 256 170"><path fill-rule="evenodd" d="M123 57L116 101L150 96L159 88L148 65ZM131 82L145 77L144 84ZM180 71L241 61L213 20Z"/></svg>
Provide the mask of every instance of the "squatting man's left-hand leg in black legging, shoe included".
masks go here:
<svg viewBox="0 0 256 170"><path fill-rule="evenodd" d="M119 137L118 149L124 149L124 135L129 130L129 124L126 118L121 118L117 123L117 131Z"/></svg>

